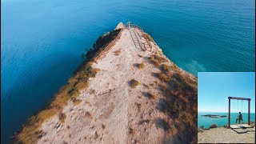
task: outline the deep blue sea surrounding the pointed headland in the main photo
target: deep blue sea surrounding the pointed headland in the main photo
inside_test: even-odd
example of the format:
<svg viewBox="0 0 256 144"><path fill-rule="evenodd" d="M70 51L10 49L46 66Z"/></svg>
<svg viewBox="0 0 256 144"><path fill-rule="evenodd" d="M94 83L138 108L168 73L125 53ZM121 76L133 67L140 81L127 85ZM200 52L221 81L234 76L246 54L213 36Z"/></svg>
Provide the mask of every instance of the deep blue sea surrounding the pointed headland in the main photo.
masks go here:
<svg viewBox="0 0 256 144"><path fill-rule="evenodd" d="M47 106L98 36L141 26L170 60L198 71L255 71L254 0L2 0L1 143Z"/></svg>

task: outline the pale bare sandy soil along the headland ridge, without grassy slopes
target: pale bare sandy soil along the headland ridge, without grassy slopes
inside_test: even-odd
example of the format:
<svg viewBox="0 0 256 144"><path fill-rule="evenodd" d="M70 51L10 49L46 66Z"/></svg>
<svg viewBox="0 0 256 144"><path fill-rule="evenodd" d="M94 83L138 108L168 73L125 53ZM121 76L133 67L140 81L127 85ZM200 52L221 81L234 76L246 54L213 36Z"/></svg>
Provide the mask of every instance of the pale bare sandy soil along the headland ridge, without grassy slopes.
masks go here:
<svg viewBox="0 0 256 144"><path fill-rule="evenodd" d="M157 100L146 98L147 92L157 99L162 97L157 86L160 81L152 74L160 70L146 58L161 49L151 44L152 52L138 49L129 30L123 30L106 57L94 63L100 71L78 96L82 102L77 106L69 102L64 108L65 123L61 124L58 116L43 123L45 135L38 143L162 143L164 139L168 139L166 143L180 143L180 138L172 137L177 131L166 132L158 126L161 119L168 123L172 120L156 108ZM116 50L121 53L115 55ZM141 62L145 68L139 70L135 64ZM131 88L131 79L140 84Z"/></svg>

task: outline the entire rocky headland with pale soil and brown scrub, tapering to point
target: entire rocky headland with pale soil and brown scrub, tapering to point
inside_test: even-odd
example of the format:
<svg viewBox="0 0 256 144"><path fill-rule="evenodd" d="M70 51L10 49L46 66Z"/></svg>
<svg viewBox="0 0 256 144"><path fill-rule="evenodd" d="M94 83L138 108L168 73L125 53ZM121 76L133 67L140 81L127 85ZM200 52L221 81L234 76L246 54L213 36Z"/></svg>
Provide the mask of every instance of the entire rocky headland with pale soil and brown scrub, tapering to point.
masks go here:
<svg viewBox="0 0 256 144"><path fill-rule="evenodd" d="M196 143L197 78L166 58L138 26L129 30L120 23L115 30L89 71L86 62L80 69L87 70L82 78L94 76L86 82L74 76L82 88L60 114L38 125L33 142Z"/></svg>

